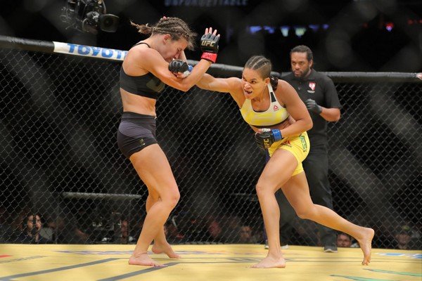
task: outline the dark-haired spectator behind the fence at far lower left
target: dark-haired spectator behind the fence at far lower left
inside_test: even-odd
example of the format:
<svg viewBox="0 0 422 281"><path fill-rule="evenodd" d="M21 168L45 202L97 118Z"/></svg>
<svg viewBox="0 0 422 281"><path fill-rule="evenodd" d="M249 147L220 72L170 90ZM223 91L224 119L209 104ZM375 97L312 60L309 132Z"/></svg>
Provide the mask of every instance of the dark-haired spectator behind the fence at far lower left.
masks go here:
<svg viewBox="0 0 422 281"><path fill-rule="evenodd" d="M22 227L23 231L18 236L18 242L29 244L51 243L51 240L39 235L39 231L42 228L41 216L39 214L27 214L22 221Z"/></svg>

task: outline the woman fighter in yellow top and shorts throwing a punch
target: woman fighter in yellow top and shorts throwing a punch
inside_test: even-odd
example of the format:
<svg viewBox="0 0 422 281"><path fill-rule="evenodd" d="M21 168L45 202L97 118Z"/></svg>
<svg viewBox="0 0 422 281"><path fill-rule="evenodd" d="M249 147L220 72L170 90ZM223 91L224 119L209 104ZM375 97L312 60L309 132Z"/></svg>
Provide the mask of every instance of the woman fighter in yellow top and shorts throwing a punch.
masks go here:
<svg viewBox="0 0 422 281"><path fill-rule="evenodd" d="M367 265L371 260L373 229L350 223L331 209L312 202L302 168L309 152L306 131L312 128L312 119L295 89L286 81L270 77L270 73L271 62L263 56L253 56L245 64L242 79L204 74L197 84L201 89L230 93L243 119L255 131L257 145L268 149L271 156L256 185L269 251L265 259L252 267L286 267L280 247L280 210L274 195L279 188L300 218L352 235L364 252L362 264Z"/></svg>

